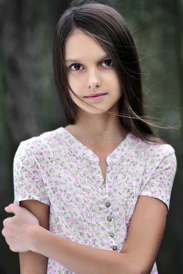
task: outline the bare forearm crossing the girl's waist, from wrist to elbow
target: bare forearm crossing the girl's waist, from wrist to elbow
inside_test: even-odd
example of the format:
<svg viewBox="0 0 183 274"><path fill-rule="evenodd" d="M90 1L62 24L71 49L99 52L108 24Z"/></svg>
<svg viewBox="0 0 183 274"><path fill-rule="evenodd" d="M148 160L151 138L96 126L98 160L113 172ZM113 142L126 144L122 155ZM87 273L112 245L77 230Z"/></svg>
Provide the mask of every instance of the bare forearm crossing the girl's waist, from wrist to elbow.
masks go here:
<svg viewBox="0 0 183 274"><path fill-rule="evenodd" d="M88 247L38 226L31 250L59 262L76 274L132 274L127 254Z"/></svg>

